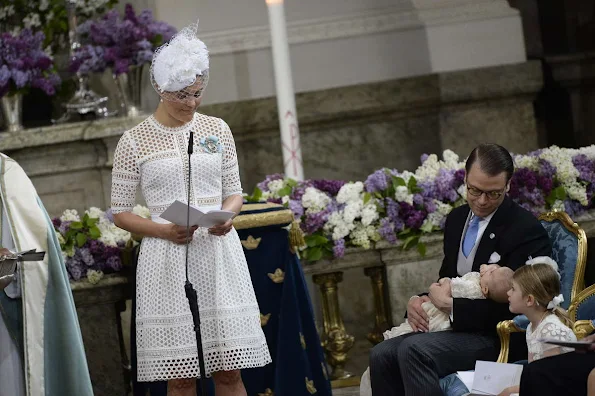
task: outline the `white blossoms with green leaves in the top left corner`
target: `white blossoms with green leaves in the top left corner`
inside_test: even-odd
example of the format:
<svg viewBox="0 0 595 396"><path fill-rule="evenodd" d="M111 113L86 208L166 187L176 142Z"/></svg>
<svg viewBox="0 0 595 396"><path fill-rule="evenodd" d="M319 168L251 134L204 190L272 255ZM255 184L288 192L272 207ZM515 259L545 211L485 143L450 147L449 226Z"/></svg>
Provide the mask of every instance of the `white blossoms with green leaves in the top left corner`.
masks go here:
<svg viewBox="0 0 595 396"><path fill-rule="evenodd" d="M117 0L76 0L76 14L86 19L102 14ZM68 43L68 16L65 0L10 0L0 6L0 32L18 35L23 29L42 31L44 48L48 55Z"/></svg>

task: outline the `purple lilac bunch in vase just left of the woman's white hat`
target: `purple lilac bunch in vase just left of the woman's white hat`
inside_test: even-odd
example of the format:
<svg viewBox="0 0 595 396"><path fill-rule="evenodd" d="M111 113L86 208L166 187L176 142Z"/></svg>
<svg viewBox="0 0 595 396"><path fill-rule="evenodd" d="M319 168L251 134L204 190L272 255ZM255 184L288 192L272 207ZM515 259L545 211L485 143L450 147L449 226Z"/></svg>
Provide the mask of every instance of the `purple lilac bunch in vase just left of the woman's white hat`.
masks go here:
<svg viewBox="0 0 595 396"><path fill-rule="evenodd" d="M126 4L122 17L111 10L98 20L81 24L78 33L84 45L75 51L70 71L87 74L111 68L119 75L130 67L150 63L155 49L169 41L176 29L155 21L151 10L136 15L132 5Z"/></svg>

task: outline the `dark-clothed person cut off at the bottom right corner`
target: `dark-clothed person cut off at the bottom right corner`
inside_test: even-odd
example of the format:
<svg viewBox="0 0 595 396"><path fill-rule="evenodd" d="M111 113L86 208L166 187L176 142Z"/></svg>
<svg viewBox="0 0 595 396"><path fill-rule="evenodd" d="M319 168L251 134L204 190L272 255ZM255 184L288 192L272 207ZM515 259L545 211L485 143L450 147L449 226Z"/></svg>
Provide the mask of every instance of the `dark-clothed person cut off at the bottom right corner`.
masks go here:
<svg viewBox="0 0 595 396"><path fill-rule="evenodd" d="M595 343L595 335L583 338ZM595 374L595 344L586 353L572 352L535 361L523 369L522 396L586 396L587 378L592 395Z"/></svg>

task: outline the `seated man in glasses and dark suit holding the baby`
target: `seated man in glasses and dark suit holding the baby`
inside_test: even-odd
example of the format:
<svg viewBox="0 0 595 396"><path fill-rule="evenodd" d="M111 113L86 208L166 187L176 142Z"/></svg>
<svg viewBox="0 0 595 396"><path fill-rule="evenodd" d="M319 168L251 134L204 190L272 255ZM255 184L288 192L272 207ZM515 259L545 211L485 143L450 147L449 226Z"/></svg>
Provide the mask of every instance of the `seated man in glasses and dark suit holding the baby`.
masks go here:
<svg viewBox="0 0 595 396"><path fill-rule="evenodd" d="M506 196L514 172L510 153L496 144L482 144L469 155L465 170L468 205L446 219L440 278L479 271L486 263L516 270L529 257L550 256L551 242L541 223ZM451 315L453 331L427 332L421 308L425 301ZM440 292L413 297L407 318L416 332L372 349L373 394L442 396L441 377L473 369L476 360L496 360L496 325L512 316L508 304L489 299L453 299Z"/></svg>

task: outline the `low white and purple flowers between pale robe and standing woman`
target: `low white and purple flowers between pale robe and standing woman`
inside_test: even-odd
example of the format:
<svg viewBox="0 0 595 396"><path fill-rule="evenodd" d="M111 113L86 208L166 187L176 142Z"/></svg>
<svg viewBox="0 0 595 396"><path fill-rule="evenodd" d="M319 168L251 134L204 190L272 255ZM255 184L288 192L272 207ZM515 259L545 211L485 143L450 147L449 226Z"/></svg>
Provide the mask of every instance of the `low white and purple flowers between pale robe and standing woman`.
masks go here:
<svg viewBox="0 0 595 396"><path fill-rule="evenodd" d="M149 210L137 205L133 213L149 218ZM95 284L104 274L122 269L122 250L136 242L129 232L118 228L111 210L91 208L81 218L76 210L66 210L52 220L60 242L69 278L87 278Z"/></svg>

